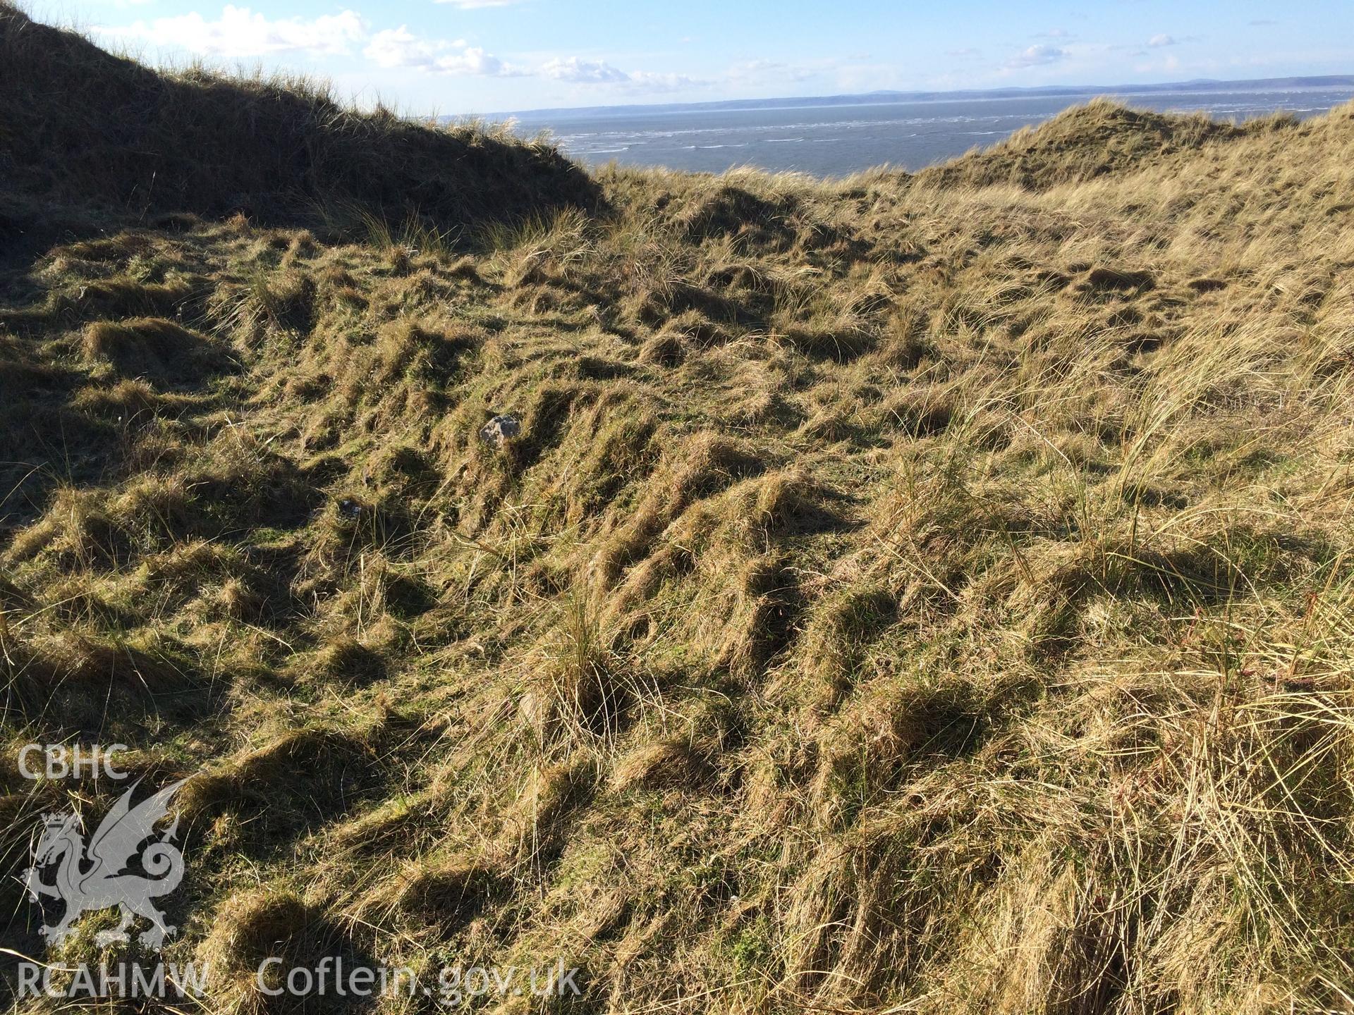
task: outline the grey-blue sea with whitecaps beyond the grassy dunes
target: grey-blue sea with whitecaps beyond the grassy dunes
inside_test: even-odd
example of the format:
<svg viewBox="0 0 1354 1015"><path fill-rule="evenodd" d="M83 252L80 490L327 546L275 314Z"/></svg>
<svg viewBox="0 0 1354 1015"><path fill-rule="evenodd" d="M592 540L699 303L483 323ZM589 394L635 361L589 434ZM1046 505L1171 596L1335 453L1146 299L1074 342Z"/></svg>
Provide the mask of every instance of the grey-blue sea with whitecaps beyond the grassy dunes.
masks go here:
<svg viewBox="0 0 1354 1015"><path fill-rule="evenodd" d="M751 165L819 177L890 165L914 172L994 145L1041 123L1085 95L879 102L819 107L519 114L517 130L548 130L561 149L588 165L616 161L670 169L723 172ZM1354 88L1190 93L1116 92L1112 97L1159 111L1202 111L1219 120L1247 120L1275 110L1315 116L1354 97Z"/></svg>

